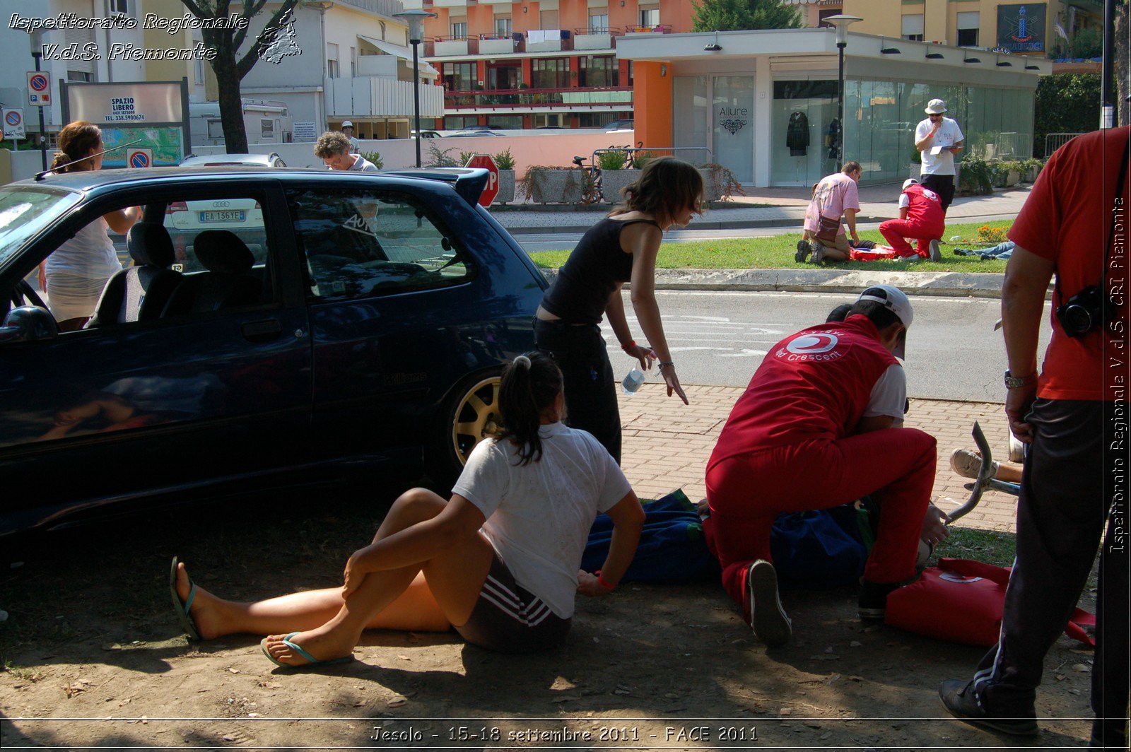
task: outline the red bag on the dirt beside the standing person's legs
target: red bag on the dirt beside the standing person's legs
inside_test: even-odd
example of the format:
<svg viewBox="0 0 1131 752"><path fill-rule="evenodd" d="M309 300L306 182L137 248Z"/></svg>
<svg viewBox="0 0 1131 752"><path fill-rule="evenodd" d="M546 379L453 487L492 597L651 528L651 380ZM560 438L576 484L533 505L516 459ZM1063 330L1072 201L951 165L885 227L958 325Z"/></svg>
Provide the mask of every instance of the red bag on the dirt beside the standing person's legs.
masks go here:
<svg viewBox="0 0 1131 752"><path fill-rule="evenodd" d="M920 579L888 596L884 622L948 642L988 648L998 643L1001 632L1009 572L968 559L940 559L938 567L926 568ZM1095 638L1083 630L1095 624L1093 614L1077 608L1064 633L1095 646Z"/></svg>

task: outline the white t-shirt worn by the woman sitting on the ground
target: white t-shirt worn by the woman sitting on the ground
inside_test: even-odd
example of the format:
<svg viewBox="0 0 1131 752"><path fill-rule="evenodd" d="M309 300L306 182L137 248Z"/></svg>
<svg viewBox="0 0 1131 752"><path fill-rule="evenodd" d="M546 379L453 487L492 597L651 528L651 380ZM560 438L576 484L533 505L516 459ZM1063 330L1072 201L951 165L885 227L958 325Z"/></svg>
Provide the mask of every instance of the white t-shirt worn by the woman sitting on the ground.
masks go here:
<svg viewBox="0 0 1131 752"><path fill-rule="evenodd" d="M539 435L542 459L525 467L509 440L480 442L452 493L487 518L483 533L515 581L569 619L593 520L632 487L590 433L551 423Z"/></svg>

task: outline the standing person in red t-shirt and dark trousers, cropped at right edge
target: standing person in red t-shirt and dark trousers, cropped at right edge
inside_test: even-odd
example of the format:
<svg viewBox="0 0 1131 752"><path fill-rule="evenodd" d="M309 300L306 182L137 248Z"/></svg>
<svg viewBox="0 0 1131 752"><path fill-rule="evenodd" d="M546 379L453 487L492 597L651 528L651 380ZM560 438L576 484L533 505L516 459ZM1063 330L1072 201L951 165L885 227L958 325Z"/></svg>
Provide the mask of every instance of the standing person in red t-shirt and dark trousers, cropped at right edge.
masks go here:
<svg viewBox="0 0 1131 752"><path fill-rule="evenodd" d="M1028 444L1017 559L998 645L972 681L939 688L968 723L1038 733L1036 690L1099 554L1090 746L1128 746L1126 270L1131 129L1077 136L1050 157L1009 239L1001 312L1005 416ZM1037 373L1045 292L1052 337ZM1106 533L1105 533L1106 526ZM1100 536L1103 542L1100 543Z"/></svg>

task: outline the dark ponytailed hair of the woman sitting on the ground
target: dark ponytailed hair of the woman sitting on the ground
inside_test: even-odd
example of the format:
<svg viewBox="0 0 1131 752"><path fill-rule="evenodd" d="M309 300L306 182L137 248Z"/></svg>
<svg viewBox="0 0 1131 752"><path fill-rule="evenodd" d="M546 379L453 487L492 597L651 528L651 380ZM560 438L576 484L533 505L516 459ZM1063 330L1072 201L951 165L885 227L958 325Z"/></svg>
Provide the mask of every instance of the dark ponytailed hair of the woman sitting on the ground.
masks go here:
<svg viewBox="0 0 1131 752"><path fill-rule="evenodd" d="M518 447L519 465L542 459L542 414L562 391L562 372L544 353L516 357L502 372L499 408L503 430L500 439Z"/></svg>

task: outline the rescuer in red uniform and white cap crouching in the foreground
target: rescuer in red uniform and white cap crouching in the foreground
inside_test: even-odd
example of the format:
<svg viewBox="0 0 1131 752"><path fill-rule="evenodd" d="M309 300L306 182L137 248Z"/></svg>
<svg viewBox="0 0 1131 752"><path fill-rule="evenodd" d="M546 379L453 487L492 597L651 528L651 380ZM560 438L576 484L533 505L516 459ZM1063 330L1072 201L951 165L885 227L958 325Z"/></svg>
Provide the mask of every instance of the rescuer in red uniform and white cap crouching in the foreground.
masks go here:
<svg viewBox="0 0 1131 752"><path fill-rule="evenodd" d="M735 404L707 463L703 522L723 586L767 645L788 641L770 528L782 512L828 509L872 494L881 507L864 569L861 619L883 619L888 594L915 574L934 484L935 440L901 427L912 305L869 287L843 322L775 345Z"/></svg>

